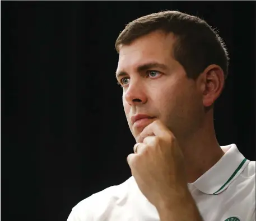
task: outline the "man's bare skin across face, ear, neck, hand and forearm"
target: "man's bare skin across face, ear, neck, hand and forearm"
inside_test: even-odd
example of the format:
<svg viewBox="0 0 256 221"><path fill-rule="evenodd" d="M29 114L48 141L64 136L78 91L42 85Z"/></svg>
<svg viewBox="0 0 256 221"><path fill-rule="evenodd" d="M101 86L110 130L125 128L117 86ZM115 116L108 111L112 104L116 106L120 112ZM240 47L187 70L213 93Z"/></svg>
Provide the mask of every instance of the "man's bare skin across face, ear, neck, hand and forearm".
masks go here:
<svg viewBox="0 0 256 221"><path fill-rule="evenodd" d="M120 46L117 79L129 128L139 142L127 160L162 221L201 220L187 182L224 155L214 132L213 110L206 110L220 95L224 74L210 65L196 80L187 78L173 56L175 40L173 33L155 31ZM133 124L136 114L155 118ZM184 205L190 209L182 209Z"/></svg>

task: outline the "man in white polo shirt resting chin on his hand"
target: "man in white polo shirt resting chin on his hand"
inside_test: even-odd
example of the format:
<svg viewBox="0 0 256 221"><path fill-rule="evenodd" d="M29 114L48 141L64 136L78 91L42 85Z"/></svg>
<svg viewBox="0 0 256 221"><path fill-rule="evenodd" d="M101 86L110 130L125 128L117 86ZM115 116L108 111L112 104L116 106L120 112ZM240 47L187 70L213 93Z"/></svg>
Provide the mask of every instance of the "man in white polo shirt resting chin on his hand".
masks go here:
<svg viewBox="0 0 256 221"><path fill-rule="evenodd" d="M255 161L220 147L213 127L229 61L220 36L165 11L129 23L115 46L133 176L82 200L68 221L255 220Z"/></svg>

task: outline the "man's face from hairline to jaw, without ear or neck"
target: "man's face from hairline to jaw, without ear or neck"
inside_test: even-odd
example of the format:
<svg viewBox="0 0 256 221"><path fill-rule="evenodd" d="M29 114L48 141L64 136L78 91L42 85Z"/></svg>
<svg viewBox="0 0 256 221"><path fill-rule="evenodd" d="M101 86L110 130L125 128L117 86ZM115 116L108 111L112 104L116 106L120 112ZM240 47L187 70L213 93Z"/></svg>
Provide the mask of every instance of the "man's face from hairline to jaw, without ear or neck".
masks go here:
<svg viewBox="0 0 256 221"><path fill-rule="evenodd" d="M131 132L139 134L160 119L177 138L188 137L203 116L197 81L188 79L173 57L172 33L152 32L120 47L117 78L123 87L123 105ZM134 116L153 118L134 122ZM145 117L145 116L144 116ZM136 119L136 118L135 118Z"/></svg>

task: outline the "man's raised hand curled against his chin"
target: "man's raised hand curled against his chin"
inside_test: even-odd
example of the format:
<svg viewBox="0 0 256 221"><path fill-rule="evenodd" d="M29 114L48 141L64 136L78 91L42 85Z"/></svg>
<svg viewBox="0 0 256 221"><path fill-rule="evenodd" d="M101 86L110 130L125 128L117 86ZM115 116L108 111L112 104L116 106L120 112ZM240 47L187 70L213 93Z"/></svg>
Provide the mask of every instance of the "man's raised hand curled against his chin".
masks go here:
<svg viewBox="0 0 256 221"><path fill-rule="evenodd" d="M127 157L141 192L159 210L188 194L184 158L174 134L159 120L140 134L135 153Z"/></svg>

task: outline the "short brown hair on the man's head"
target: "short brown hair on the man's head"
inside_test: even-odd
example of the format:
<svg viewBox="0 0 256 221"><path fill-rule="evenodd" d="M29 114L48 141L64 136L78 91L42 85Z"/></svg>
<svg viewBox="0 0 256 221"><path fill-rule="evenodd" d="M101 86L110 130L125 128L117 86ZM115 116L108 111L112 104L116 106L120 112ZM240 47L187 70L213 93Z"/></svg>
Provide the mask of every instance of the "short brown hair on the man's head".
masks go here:
<svg viewBox="0 0 256 221"><path fill-rule="evenodd" d="M219 65L227 77L229 55L224 41L206 21L179 11L164 11L137 18L128 23L115 42L119 52L121 45L129 45L138 37L153 31L174 33L177 40L173 55L187 72L196 79L207 66Z"/></svg>

